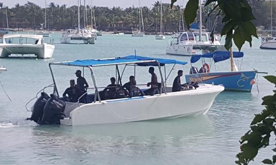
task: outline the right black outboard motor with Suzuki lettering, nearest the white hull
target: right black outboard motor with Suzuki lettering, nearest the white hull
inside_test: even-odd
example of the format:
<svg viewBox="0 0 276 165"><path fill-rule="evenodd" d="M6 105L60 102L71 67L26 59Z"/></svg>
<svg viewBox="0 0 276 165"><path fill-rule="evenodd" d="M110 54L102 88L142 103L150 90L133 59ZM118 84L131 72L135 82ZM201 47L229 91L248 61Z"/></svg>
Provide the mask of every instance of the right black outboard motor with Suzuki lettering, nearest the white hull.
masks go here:
<svg viewBox="0 0 276 165"><path fill-rule="evenodd" d="M44 106L42 120L39 124L60 124L60 119L65 117L63 114L65 102L54 94L50 96L50 99Z"/></svg>

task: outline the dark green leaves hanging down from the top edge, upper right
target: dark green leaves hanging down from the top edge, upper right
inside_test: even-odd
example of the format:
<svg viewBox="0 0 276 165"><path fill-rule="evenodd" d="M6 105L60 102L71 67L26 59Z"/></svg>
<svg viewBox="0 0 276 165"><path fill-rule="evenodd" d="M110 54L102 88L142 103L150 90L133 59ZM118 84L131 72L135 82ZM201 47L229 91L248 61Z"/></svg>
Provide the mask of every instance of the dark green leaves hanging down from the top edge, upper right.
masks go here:
<svg viewBox="0 0 276 165"><path fill-rule="evenodd" d="M171 0L171 6L176 0ZM252 20L255 16L252 14L252 9L246 0L208 0L204 6L215 4L210 13L216 12L222 16L223 28L221 36L225 35L225 48L229 50L232 47L232 39L235 45L241 50L242 45L247 41L252 45L252 36L258 38L257 30ZM202 4L200 4L202 5ZM184 17L188 28L193 23L197 16L199 6L198 0L189 0L184 11ZM234 33L233 33L234 32ZM211 37L214 39L214 29L211 32Z"/></svg>

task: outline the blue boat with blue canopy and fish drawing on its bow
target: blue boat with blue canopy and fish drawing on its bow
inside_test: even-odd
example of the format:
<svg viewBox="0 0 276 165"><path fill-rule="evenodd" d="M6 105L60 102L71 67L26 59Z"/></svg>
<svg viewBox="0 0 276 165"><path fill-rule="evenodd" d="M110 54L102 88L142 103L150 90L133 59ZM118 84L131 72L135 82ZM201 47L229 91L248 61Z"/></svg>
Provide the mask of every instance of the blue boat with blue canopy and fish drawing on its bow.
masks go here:
<svg viewBox="0 0 276 165"><path fill-rule="evenodd" d="M210 66L205 59L210 59L210 66L215 66L215 72L210 71ZM233 52L233 58L243 58L243 52ZM192 64L201 59L202 67L198 71ZM223 85L226 91L251 92L252 85L255 84L257 70L239 71L234 60L231 60L232 70L217 72L216 63L231 59L229 51L215 51L201 55L194 55L191 58L190 74L185 75L186 81L197 81L204 84Z"/></svg>

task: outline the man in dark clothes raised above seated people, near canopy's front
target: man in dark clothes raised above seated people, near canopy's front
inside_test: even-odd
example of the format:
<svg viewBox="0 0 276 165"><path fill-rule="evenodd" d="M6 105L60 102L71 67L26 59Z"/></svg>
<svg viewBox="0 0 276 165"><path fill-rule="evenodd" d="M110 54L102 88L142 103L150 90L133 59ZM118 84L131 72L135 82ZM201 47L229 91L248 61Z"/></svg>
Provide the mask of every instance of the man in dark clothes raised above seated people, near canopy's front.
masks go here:
<svg viewBox="0 0 276 165"><path fill-rule="evenodd" d="M155 95L157 93L159 93L159 89L158 89L158 82L157 82L157 76L154 73L154 68L150 67L149 68L149 73L151 74L151 81L148 82L147 86L151 86L150 89L147 89L146 91L144 91L145 95Z"/></svg>

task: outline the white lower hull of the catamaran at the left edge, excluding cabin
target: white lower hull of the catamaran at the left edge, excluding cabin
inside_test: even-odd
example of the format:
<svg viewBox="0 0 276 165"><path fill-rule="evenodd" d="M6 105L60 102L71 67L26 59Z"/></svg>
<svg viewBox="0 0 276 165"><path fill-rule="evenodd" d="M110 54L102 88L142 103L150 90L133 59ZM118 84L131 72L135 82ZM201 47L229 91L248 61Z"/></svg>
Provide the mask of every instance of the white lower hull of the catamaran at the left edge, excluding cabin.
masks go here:
<svg viewBox="0 0 276 165"><path fill-rule="evenodd" d="M55 45L42 44L0 44L0 58L7 58L11 54L35 54L40 59L53 57Z"/></svg>

